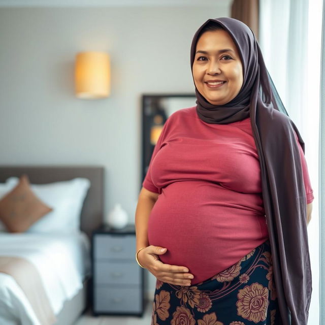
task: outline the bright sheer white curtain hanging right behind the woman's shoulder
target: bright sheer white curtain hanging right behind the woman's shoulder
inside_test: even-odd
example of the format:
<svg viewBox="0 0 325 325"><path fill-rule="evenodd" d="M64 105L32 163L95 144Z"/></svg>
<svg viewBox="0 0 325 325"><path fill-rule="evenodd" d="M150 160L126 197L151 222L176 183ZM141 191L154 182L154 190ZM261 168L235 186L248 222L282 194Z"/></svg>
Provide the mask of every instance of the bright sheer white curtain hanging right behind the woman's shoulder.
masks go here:
<svg viewBox="0 0 325 325"><path fill-rule="evenodd" d="M260 0L259 40L266 66L306 146L314 190L308 225L313 291L309 325L319 323L318 145L322 0ZM325 235L325 234L324 234Z"/></svg>

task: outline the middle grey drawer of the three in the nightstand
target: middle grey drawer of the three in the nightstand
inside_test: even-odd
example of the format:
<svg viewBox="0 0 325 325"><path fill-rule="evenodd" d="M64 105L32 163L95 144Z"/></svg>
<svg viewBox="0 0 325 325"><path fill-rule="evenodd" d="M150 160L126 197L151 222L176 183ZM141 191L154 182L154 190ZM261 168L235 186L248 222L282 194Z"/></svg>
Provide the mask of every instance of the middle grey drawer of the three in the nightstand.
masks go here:
<svg viewBox="0 0 325 325"><path fill-rule="evenodd" d="M94 264L95 284L140 284L141 270L136 262Z"/></svg>

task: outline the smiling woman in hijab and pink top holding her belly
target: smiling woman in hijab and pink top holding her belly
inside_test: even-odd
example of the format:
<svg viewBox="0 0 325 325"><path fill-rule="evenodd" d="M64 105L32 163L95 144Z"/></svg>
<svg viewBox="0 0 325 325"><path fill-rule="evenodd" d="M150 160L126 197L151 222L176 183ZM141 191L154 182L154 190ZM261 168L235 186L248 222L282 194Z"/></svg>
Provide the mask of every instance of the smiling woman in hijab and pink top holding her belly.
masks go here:
<svg viewBox="0 0 325 325"><path fill-rule="evenodd" d="M304 142L244 23L207 20L191 70L197 106L166 121L136 210L152 324L307 324Z"/></svg>

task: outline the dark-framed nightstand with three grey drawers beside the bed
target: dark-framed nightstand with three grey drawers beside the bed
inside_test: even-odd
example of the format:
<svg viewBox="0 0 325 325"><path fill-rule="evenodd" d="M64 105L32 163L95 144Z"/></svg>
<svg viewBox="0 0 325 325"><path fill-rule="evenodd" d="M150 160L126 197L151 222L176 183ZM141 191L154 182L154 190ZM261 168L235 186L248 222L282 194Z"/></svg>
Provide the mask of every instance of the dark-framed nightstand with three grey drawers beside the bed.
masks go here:
<svg viewBox="0 0 325 325"><path fill-rule="evenodd" d="M92 234L93 314L139 315L144 312L144 269L135 259L136 232L102 226Z"/></svg>

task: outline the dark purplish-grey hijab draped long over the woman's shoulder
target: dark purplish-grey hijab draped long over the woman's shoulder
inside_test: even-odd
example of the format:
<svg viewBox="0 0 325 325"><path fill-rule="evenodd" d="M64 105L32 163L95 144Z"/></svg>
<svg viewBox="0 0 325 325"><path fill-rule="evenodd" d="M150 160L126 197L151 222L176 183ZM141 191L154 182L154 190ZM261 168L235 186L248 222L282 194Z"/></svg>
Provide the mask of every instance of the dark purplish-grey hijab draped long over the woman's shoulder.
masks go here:
<svg viewBox="0 0 325 325"><path fill-rule="evenodd" d="M259 163L272 249L273 272L283 325L307 325L311 269L307 205L299 147L305 144L288 117L251 29L233 18L208 19L194 35L193 66L200 31L215 22L229 32L240 53L243 85L231 102L212 105L196 88L197 113L207 123L227 124L250 117Z"/></svg>

